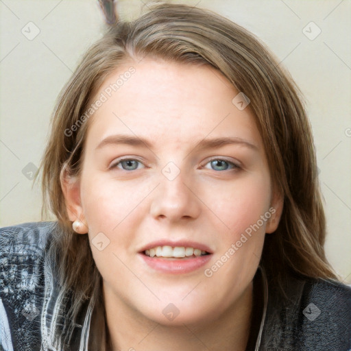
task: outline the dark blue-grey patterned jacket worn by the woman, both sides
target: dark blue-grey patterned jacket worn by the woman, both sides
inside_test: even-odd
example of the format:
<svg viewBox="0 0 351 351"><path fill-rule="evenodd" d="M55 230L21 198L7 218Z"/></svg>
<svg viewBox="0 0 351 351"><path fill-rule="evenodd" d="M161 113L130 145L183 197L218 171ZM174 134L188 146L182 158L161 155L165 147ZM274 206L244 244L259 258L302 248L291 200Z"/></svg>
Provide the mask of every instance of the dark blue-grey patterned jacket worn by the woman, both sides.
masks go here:
<svg viewBox="0 0 351 351"><path fill-rule="evenodd" d="M46 254L56 230L56 222L0 230L0 351L88 350L90 304L82 310L69 347L63 348L52 330L53 325L64 329L70 322L64 319L69 300L62 296ZM261 313L254 317L247 351L351 350L350 287L291 277L287 302L276 304L264 271L256 276L255 307Z"/></svg>

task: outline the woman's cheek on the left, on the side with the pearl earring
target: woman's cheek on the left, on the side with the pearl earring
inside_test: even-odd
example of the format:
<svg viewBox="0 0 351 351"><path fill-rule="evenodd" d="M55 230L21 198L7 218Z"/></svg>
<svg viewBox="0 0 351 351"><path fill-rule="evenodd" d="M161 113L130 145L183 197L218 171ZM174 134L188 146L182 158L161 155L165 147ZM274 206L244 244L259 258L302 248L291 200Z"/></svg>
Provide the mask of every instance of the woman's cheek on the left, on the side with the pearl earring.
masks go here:
<svg viewBox="0 0 351 351"><path fill-rule="evenodd" d="M82 206L90 247L102 274L118 274L112 273L111 264L119 267L119 259L125 262L134 256L135 247L130 244L136 241L138 228L147 216L147 196L152 189L151 182L131 184L101 173L82 175ZM103 245L95 246L101 241ZM99 250L101 246L103 250Z"/></svg>

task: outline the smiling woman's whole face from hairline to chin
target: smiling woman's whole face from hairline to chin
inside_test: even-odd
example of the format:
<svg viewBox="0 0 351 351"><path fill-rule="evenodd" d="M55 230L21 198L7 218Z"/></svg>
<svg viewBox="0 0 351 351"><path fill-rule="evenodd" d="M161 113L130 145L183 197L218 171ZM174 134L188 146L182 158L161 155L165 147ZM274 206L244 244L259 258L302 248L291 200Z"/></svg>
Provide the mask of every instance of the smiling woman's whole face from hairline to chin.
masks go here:
<svg viewBox="0 0 351 351"><path fill-rule="evenodd" d="M216 319L250 294L281 201L238 93L210 66L147 58L102 84L68 202L106 301L174 325Z"/></svg>

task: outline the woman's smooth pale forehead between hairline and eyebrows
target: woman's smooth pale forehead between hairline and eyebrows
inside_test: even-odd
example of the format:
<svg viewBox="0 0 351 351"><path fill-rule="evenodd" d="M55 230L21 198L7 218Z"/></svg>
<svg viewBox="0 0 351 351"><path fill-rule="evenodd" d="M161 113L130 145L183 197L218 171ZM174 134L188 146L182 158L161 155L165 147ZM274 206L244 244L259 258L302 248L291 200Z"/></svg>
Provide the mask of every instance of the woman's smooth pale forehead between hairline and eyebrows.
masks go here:
<svg viewBox="0 0 351 351"><path fill-rule="evenodd" d="M132 72L132 73L131 73ZM88 138L114 132L182 143L206 136L239 136L261 144L254 114L239 110L238 91L209 65L145 58L115 69L95 95L104 102L89 120Z"/></svg>

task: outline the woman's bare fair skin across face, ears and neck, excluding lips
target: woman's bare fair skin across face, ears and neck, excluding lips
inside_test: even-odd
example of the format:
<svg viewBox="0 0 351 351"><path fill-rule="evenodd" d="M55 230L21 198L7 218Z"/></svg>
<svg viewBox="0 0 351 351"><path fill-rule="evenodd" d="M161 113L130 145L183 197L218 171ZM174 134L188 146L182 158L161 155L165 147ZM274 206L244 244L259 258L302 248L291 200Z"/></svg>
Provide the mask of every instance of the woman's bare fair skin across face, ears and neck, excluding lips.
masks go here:
<svg viewBox="0 0 351 351"><path fill-rule="evenodd" d="M131 64L135 73L90 117L82 173L64 188L70 219L84 223L80 234L88 232L104 280L114 350L245 350L252 279L265 233L276 230L282 211L254 115L250 105L234 106L239 92L210 66L154 58ZM110 74L96 97L131 64ZM151 145L98 146L114 134ZM241 138L254 148L196 147L219 137ZM121 163L122 156L140 162ZM180 171L173 180L162 173L169 162L172 175ZM204 270L269 208L274 215L206 277ZM100 251L91 240L101 232L110 242ZM166 274L138 253L159 239L204 243L213 254L195 271ZM179 311L173 320L162 313L170 303Z"/></svg>

